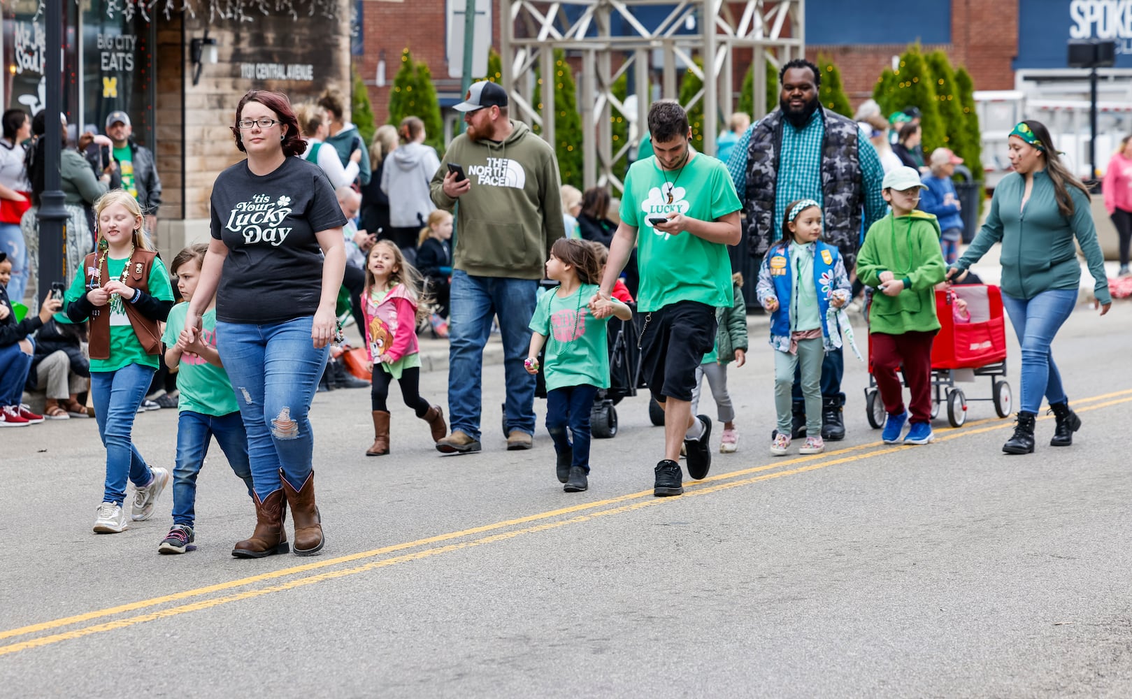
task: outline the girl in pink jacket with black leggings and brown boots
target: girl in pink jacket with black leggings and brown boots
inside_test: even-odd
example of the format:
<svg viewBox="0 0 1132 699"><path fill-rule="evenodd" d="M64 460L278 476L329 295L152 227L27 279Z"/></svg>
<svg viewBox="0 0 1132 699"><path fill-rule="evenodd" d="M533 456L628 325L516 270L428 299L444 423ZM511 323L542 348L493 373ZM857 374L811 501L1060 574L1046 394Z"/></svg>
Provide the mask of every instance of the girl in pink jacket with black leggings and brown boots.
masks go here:
<svg viewBox="0 0 1132 699"><path fill-rule="evenodd" d="M366 288L362 292L366 318L366 354L374 376L370 392L374 417L374 446L366 456L389 452L389 383L401 386L401 396L418 417L428 423L432 441L448 433L444 411L420 396L421 359L417 342L417 321L429 317L421 297L421 276L405 261L401 248L379 240L366 258Z"/></svg>

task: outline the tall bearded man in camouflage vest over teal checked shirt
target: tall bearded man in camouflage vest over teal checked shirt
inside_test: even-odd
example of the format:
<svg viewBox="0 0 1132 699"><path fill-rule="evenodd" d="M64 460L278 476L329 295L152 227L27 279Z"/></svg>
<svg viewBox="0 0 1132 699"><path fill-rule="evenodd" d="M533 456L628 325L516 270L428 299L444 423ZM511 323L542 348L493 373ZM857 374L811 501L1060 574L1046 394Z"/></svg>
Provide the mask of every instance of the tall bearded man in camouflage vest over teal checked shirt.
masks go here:
<svg viewBox="0 0 1132 699"><path fill-rule="evenodd" d="M846 269L854 269L861 231L885 215L881 195L884 169L873 144L860 138L852 120L822 107L817 98L822 74L816 66L795 59L782 66L779 80L779 109L747 129L727 165L744 200L751 254L762 258L782 236L782 218L790 201L813 199L822 205L825 242L838 247ZM841 350L826 353L822 362L825 440L844 439L843 373ZM795 374L794 439L805 435L805 406Z"/></svg>

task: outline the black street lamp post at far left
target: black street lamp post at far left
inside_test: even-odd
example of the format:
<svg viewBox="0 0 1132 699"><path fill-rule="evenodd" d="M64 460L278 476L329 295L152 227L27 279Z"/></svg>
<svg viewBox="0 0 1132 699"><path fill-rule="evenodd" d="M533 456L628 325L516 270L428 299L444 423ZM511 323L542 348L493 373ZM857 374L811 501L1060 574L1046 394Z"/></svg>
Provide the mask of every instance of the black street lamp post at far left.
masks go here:
<svg viewBox="0 0 1132 699"><path fill-rule="evenodd" d="M45 20L48 23L46 45L53 50L46 52L44 61L44 81L46 83L46 114L44 120L44 189L40 195L40 279L38 304L43 295L50 291L52 282L63 282L63 231L66 230L67 209L63 207L63 192L60 189L59 161L62 155L62 64L60 46L62 46L62 0L46 0Z"/></svg>

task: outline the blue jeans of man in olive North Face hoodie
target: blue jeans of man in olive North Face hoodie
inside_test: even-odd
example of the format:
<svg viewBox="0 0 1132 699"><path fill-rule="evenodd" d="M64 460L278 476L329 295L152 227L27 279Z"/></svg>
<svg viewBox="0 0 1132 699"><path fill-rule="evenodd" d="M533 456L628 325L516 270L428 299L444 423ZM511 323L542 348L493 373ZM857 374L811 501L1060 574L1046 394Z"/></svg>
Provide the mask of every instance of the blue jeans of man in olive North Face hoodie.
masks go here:
<svg viewBox="0 0 1132 699"><path fill-rule="evenodd" d="M534 434L534 377L523 360L531 346L529 325L534 316L535 279L473 277L452 273L448 304L448 417L452 430L480 438L483 346L491 335L491 318L499 317L503 334L504 377L507 386L507 431Z"/></svg>

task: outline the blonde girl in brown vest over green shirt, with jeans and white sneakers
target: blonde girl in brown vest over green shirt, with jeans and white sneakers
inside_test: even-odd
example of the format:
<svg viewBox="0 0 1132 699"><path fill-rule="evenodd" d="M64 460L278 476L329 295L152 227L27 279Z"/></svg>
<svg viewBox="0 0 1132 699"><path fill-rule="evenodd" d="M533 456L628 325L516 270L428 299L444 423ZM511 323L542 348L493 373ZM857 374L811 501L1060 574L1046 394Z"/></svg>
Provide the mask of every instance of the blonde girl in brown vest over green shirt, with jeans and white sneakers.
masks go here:
<svg viewBox="0 0 1132 699"><path fill-rule="evenodd" d="M65 296L72 322L91 321L91 392L106 480L95 533L125 532L126 481L135 495L129 519L153 515L169 471L149 467L131 441L134 416L161 361L158 322L169 317L169 271L142 230L142 207L115 189L94 204L97 243Z"/></svg>

